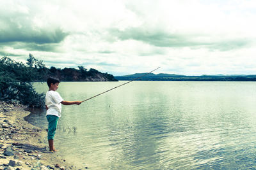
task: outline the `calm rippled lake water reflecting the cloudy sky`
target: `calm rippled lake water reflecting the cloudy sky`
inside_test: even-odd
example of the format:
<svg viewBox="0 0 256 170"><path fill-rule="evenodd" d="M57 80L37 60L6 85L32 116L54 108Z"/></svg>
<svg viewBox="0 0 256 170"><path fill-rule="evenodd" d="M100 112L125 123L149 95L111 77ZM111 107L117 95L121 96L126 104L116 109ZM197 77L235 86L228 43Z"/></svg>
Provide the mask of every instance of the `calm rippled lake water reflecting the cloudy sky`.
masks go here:
<svg viewBox="0 0 256 170"><path fill-rule="evenodd" d="M124 82L63 82L58 92L84 100ZM55 146L90 169L256 169L255 94L256 82L134 81L63 106ZM47 129L45 110L28 121Z"/></svg>

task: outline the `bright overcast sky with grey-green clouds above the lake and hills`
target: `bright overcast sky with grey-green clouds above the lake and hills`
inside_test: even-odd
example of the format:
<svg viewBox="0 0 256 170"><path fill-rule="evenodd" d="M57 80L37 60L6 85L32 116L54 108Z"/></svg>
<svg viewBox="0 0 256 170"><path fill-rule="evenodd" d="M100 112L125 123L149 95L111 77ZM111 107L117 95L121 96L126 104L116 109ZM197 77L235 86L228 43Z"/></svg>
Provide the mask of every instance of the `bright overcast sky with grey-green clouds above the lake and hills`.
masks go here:
<svg viewBox="0 0 256 170"><path fill-rule="evenodd" d="M255 0L0 0L0 57L114 76L256 74L255 19Z"/></svg>

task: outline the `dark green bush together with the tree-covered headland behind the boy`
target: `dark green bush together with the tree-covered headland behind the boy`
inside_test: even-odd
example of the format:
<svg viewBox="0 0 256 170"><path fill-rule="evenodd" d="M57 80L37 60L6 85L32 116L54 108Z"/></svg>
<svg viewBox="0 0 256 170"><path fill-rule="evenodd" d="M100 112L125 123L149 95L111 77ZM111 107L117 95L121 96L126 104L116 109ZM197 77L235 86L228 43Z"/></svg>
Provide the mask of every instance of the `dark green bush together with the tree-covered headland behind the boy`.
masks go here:
<svg viewBox="0 0 256 170"><path fill-rule="evenodd" d="M87 71L83 66L78 68L48 69L32 54L29 54L26 64L3 57L0 59L0 100L41 108L45 104L45 94L38 94L33 82L45 82L49 76L60 81L117 81L111 74L100 73L96 69Z"/></svg>

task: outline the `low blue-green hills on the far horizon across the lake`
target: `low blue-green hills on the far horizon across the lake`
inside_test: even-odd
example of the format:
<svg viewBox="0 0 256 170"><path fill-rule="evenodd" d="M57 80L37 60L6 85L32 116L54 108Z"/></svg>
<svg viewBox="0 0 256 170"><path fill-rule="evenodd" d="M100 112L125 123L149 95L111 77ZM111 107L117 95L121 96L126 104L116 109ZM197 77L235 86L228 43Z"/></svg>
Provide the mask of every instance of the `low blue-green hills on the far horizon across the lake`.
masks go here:
<svg viewBox="0 0 256 170"><path fill-rule="evenodd" d="M134 80L147 73L136 73L125 76L115 76L116 80ZM201 75L201 76L186 76L179 74L154 74L150 73L143 76L139 80L147 81L256 81L256 75Z"/></svg>

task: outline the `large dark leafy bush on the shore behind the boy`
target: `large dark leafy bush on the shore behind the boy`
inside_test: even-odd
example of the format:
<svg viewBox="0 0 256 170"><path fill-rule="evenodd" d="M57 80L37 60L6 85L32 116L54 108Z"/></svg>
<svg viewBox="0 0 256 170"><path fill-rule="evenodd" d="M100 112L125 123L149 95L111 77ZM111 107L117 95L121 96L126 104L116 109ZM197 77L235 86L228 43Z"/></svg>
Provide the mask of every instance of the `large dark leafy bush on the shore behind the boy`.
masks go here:
<svg viewBox="0 0 256 170"><path fill-rule="evenodd" d="M29 107L44 106L45 94L38 94L33 82L44 81L48 69L29 54L26 64L16 62L8 57L0 59L0 100L18 101Z"/></svg>

